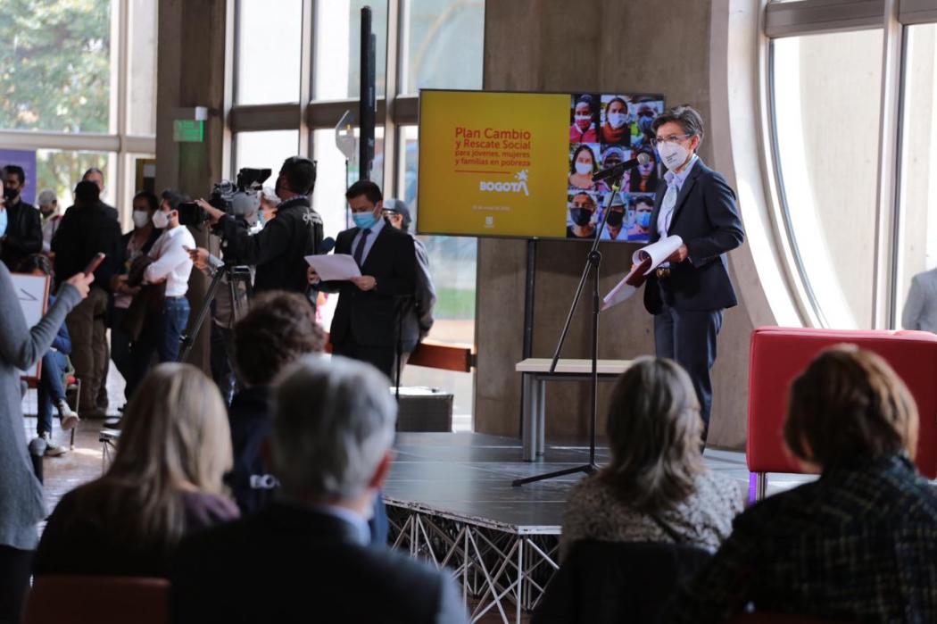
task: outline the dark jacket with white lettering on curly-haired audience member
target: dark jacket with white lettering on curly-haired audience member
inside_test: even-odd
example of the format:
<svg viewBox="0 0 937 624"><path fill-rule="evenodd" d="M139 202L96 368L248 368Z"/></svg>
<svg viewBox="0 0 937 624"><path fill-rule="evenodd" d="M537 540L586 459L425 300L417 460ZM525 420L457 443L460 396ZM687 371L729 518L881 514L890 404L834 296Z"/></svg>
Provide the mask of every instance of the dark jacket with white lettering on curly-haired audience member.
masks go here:
<svg viewBox="0 0 937 624"><path fill-rule="evenodd" d="M266 507L274 491L275 482L260 456L273 423L272 403L270 388L256 386L234 394L228 409L234 466L225 481L244 516Z"/></svg>

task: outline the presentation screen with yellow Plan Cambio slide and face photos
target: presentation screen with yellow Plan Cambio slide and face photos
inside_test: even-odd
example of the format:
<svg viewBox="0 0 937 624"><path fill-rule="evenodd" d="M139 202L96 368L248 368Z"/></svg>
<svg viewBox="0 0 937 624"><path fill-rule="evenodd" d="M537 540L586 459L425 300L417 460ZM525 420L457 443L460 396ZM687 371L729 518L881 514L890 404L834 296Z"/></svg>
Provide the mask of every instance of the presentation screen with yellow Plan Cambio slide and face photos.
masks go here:
<svg viewBox="0 0 937 624"><path fill-rule="evenodd" d="M419 233L594 239L613 189L592 175L645 152L611 198L602 240L646 243L663 106L637 93L422 91Z"/></svg>

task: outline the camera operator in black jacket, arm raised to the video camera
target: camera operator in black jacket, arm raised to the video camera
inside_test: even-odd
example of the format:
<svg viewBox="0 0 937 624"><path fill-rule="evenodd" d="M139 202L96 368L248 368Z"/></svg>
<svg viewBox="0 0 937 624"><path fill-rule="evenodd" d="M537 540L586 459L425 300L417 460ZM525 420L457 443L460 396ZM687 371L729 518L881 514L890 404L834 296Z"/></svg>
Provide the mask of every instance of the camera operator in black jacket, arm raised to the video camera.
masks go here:
<svg viewBox="0 0 937 624"><path fill-rule="evenodd" d="M304 258L319 253L322 243L322 219L309 201L315 185L316 165L312 160L303 156L287 158L276 178L275 193L282 200L276 218L253 236L234 216L199 201L227 241L227 260L257 267L255 291L307 290Z"/></svg>

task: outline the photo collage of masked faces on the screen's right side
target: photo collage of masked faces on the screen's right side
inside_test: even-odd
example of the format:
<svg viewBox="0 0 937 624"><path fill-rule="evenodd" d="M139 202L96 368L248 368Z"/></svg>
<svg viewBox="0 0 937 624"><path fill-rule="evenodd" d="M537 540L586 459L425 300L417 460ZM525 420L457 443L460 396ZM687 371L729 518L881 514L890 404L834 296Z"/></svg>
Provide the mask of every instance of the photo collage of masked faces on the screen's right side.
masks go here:
<svg viewBox="0 0 937 624"><path fill-rule="evenodd" d="M651 125L662 112L662 96L573 94L567 238L594 239L602 223L602 210L614 183L594 183L592 176L645 152L651 161L625 173L621 190L612 200L602 240L648 242L654 192L662 176L661 159L650 142L654 136Z"/></svg>

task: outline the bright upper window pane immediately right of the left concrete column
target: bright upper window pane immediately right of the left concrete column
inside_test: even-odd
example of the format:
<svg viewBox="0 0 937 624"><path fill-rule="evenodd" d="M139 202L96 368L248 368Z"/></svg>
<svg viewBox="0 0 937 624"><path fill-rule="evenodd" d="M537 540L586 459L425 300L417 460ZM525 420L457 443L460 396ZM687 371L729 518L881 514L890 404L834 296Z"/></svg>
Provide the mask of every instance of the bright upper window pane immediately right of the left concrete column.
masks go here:
<svg viewBox="0 0 937 624"><path fill-rule="evenodd" d="M235 102L299 101L302 31L301 0L239 0Z"/></svg>

